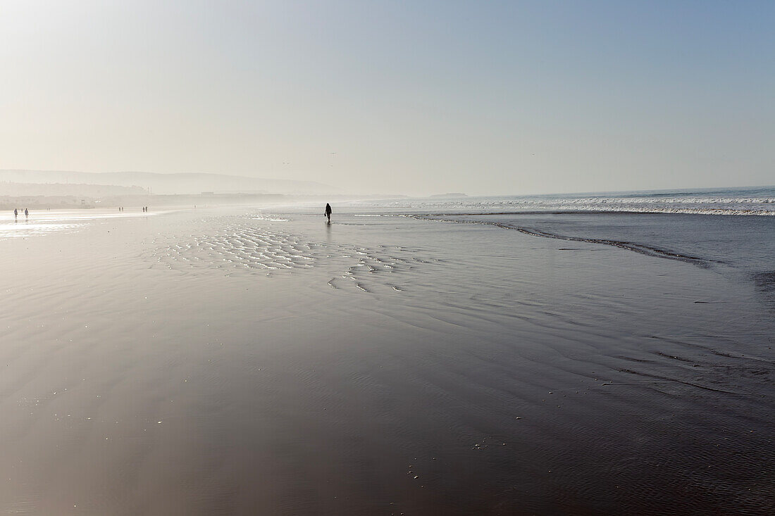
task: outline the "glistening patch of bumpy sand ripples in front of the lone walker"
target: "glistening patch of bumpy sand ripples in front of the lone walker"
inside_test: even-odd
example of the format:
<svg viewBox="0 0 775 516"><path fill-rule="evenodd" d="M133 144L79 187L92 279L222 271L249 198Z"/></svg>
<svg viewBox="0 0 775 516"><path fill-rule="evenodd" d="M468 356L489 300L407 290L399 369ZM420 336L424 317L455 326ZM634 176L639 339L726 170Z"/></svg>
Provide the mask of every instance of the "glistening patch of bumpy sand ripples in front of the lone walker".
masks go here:
<svg viewBox="0 0 775 516"><path fill-rule="evenodd" d="M146 259L172 270L224 270L232 273L292 273L325 267L334 274L329 287L364 292L408 290L413 276L439 263L422 249L376 248L314 242L271 226L226 225L215 235L195 235L188 241L155 240ZM338 270L337 270L338 269Z"/></svg>

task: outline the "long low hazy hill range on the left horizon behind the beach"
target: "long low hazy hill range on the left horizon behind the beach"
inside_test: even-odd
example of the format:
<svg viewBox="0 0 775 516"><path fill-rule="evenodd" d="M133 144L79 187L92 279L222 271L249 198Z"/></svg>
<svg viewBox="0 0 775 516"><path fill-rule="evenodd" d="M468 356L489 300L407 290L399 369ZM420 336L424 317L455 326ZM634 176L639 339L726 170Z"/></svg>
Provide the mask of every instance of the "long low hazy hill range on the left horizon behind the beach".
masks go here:
<svg viewBox="0 0 775 516"><path fill-rule="evenodd" d="M153 172L75 172L70 170L0 170L2 181L33 184L100 184L120 187L140 187L153 194L294 194L327 195L339 193L329 184L315 181L291 181L225 174L157 174Z"/></svg>

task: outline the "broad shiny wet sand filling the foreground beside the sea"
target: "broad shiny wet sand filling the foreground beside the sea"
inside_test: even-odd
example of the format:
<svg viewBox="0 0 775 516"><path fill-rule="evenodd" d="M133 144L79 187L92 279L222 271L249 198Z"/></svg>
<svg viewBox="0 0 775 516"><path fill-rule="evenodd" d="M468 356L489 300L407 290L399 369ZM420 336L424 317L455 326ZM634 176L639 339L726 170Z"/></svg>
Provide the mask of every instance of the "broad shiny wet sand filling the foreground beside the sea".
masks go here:
<svg viewBox="0 0 775 516"><path fill-rule="evenodd" d="M356 215L0 240L0 514L775 509L751 285Z"/></svg>

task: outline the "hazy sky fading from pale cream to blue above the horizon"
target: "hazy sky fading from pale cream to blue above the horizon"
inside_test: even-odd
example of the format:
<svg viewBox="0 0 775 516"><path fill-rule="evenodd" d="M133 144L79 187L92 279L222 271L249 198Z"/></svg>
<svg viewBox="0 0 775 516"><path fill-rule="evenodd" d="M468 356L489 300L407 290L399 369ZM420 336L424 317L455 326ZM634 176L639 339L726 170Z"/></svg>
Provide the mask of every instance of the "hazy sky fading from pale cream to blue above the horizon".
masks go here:
<svg viewBox="0 0 775 516"><path fill-rule="evenodd" d="M0 0L0 168L775 184L775 2Z"/></svg>

